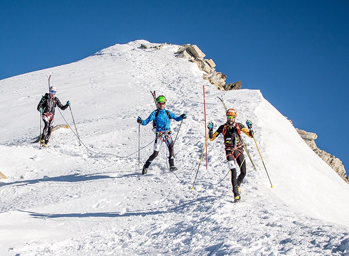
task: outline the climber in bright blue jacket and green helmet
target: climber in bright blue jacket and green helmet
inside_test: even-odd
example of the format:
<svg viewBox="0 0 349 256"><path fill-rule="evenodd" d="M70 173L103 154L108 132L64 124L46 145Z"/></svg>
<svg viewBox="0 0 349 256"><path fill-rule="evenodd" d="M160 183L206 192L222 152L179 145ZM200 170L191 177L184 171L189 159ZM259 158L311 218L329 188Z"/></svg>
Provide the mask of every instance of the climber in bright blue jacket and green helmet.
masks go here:
<svg viewBox="0 0 349 256"><path fill-rule="evenodd" d="M153 160L158 156L160 146L163 142L166 143L168 150L170 152L169 163L170 163L170 171L176 171L177 168L174 166L174 150L173 150L173 140L171 137L171 129L170 129L170 119L174 119L176 121L181 121L182 119L187 118L186 114L181 114L180 116L176 116L169 110L165 109L166 98L163 95L157 97L156 102L158 105L158 109L154 110L147 119L142 120L141 117L138 116L137 122L142 125L147 125L149 122L154 121L153 125L156 125L156 138L154 144L154 152L148 158L147 162L143 166L142 175L147 174L148 168Z"/></svg>

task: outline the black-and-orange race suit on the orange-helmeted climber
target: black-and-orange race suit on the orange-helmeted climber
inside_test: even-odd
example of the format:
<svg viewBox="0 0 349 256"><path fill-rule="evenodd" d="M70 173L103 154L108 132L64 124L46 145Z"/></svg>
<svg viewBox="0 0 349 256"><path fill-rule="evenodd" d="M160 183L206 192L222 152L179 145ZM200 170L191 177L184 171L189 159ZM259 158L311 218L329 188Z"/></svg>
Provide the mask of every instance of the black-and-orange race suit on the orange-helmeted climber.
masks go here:
<svg viewBox="0 0 349 256"><path fill-rule="evenodd" d="M231 181L233 185L234 195L239 195L238 187L246 176L246 162L244 157L244 148L241 143L241 131L248 137L252 138L252 132L249 131L242 123L234 122L234 124L225 123L218 127L215 133L210 132L210 141L215 140L220 134L224 137L224 146L226 148L227 161L230 164ZM234 160L239 165L240 174L237 176Z"/></svg>

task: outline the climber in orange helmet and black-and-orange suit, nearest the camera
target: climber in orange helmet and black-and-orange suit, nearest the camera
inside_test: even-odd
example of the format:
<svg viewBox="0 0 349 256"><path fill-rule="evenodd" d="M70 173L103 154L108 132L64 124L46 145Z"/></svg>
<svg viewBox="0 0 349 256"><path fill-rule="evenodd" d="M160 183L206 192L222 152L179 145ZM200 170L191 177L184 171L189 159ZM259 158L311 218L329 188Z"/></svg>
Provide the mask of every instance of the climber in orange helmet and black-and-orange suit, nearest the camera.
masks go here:
<svg viewBox="0 0 349 256"><path fill-rule="evenodd" d="M214 123L210 122L207 125L210 131L210 141L215 140L220 134L224 137L224 146L226 151L226 157L228 161L228 167L231 173L231 181L233 185L234 193L234 203L240 202L240 185L244 181L246 176L246 162L244 157L244 149L241 139L241 131L244 132L248 137L252 138L252 122L250 120L246 121L247 129L242 123L236 122L235 118L237 112L233 108L229 108L226 113L227 122L218 127L217 131L213 133ZM240 168L240 174L237 176L236 165L238 164Z"/></svg>

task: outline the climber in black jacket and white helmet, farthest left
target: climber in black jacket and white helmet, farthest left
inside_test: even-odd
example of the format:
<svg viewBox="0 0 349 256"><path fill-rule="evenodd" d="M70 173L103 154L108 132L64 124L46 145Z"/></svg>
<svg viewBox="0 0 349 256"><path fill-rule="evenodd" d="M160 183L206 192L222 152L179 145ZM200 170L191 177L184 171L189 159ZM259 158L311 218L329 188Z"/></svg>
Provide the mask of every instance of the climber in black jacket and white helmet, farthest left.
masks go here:
<svg viewBox="0 0 349 256"><path fill-rule="evenodd" d="M37 106L37 110L40 112L42 120L45 123L44 129L40 137L40 148L41 144L44 144L44 147L48 147L47 144L52 133L52 128L54 124L53 118L56 106L58 106L62 110L65 110L71 104L68 100L65 105L62 105L62 103L60 103L60 100L57 97L55 97L56 92L57 88L51 86L49 93L45 93L45 95L42 96Z"/></svg>

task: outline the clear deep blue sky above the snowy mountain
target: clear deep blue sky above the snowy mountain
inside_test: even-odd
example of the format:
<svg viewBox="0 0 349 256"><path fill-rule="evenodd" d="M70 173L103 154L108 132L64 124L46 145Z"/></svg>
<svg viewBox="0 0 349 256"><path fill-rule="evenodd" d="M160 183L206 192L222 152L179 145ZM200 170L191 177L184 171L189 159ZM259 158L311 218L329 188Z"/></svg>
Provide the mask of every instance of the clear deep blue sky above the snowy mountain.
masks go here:
<svg viewBox="0 0 349 256"><path fill-rule="evenodd" d="M0 79L137 39L196 44L349 171L349 1L0 2ZM270 125L273 125L270 123Z"/></svg>

